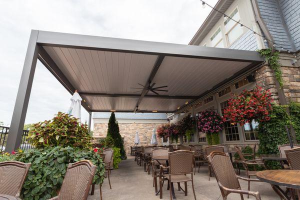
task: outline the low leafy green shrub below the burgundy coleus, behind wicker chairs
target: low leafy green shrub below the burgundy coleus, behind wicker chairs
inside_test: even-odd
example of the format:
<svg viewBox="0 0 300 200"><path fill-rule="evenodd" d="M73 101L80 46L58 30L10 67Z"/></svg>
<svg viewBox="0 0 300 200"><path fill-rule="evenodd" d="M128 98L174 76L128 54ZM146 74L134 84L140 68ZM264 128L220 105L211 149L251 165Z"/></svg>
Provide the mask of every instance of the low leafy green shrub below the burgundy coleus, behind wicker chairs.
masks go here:
<svg viewBox="0 0 300 200"><path fill-rule="evenodd" d="M90 160L97 166L93 183L102 183L104 164L98 153L75 147L47 146L34 148L15 154L15 160L31 162L28 175L22 188L22 197L29 199L48 199L60 189L68 163L82 159Z"/></svg>

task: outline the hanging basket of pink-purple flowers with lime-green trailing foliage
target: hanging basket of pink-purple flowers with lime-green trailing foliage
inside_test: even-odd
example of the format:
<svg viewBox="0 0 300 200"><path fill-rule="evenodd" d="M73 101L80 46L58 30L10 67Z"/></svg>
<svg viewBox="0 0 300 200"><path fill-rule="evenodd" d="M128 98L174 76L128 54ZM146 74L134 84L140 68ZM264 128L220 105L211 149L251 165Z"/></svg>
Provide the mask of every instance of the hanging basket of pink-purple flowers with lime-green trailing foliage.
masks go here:
<svg viewBox="0 0 300 200"><path fill-rule="evenodd" d="M199 113L199 131L206 133L206 140L209 145L218 144L218 132L224 127L222 117L213 110L205 110Z"/></svg>

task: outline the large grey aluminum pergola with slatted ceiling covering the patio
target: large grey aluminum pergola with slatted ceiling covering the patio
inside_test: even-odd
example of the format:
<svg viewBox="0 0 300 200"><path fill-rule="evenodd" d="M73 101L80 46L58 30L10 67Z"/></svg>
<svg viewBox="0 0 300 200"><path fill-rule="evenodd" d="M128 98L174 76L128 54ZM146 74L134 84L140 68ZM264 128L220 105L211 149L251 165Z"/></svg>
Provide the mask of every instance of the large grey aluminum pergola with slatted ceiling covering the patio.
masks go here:
<svg viewBox="0 0 300 200"><path fill-rule="evenodd" d="M263 62L258 52L32 30L7 139L16 149L36 61L89 112L176 112ZM155 94L139 84L167 85ZM89 117L89 124L90 124Z"/></svg>

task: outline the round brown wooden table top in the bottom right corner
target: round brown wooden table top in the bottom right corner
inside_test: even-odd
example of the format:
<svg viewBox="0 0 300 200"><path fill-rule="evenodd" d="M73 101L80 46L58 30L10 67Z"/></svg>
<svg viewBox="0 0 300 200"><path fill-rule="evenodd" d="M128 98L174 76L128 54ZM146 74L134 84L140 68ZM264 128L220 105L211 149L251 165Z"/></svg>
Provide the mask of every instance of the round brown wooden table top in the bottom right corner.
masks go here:
<svg viewBox="0 0 300 200"><path fill-rule="evenodd" d="M263 170L256 172L256 176L270 184L300 189L300 170Z"/></svg>

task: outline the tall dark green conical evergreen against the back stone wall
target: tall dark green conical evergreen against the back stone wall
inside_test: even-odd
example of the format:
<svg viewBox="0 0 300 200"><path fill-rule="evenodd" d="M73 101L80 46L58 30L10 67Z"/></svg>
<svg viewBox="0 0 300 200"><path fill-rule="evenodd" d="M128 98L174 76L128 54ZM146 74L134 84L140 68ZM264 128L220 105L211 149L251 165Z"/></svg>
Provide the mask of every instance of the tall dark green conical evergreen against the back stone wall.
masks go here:
<svg viewBox="0 0 300 200"><path fill-rule="evenodd" d="M120 149L121 159L126 159L127 157L124 150L122 137L120 135L118 124L115 120L114 112L111 112L111 115L109 117L107 136L111 136L114 142L114 146Z"/></svg>

